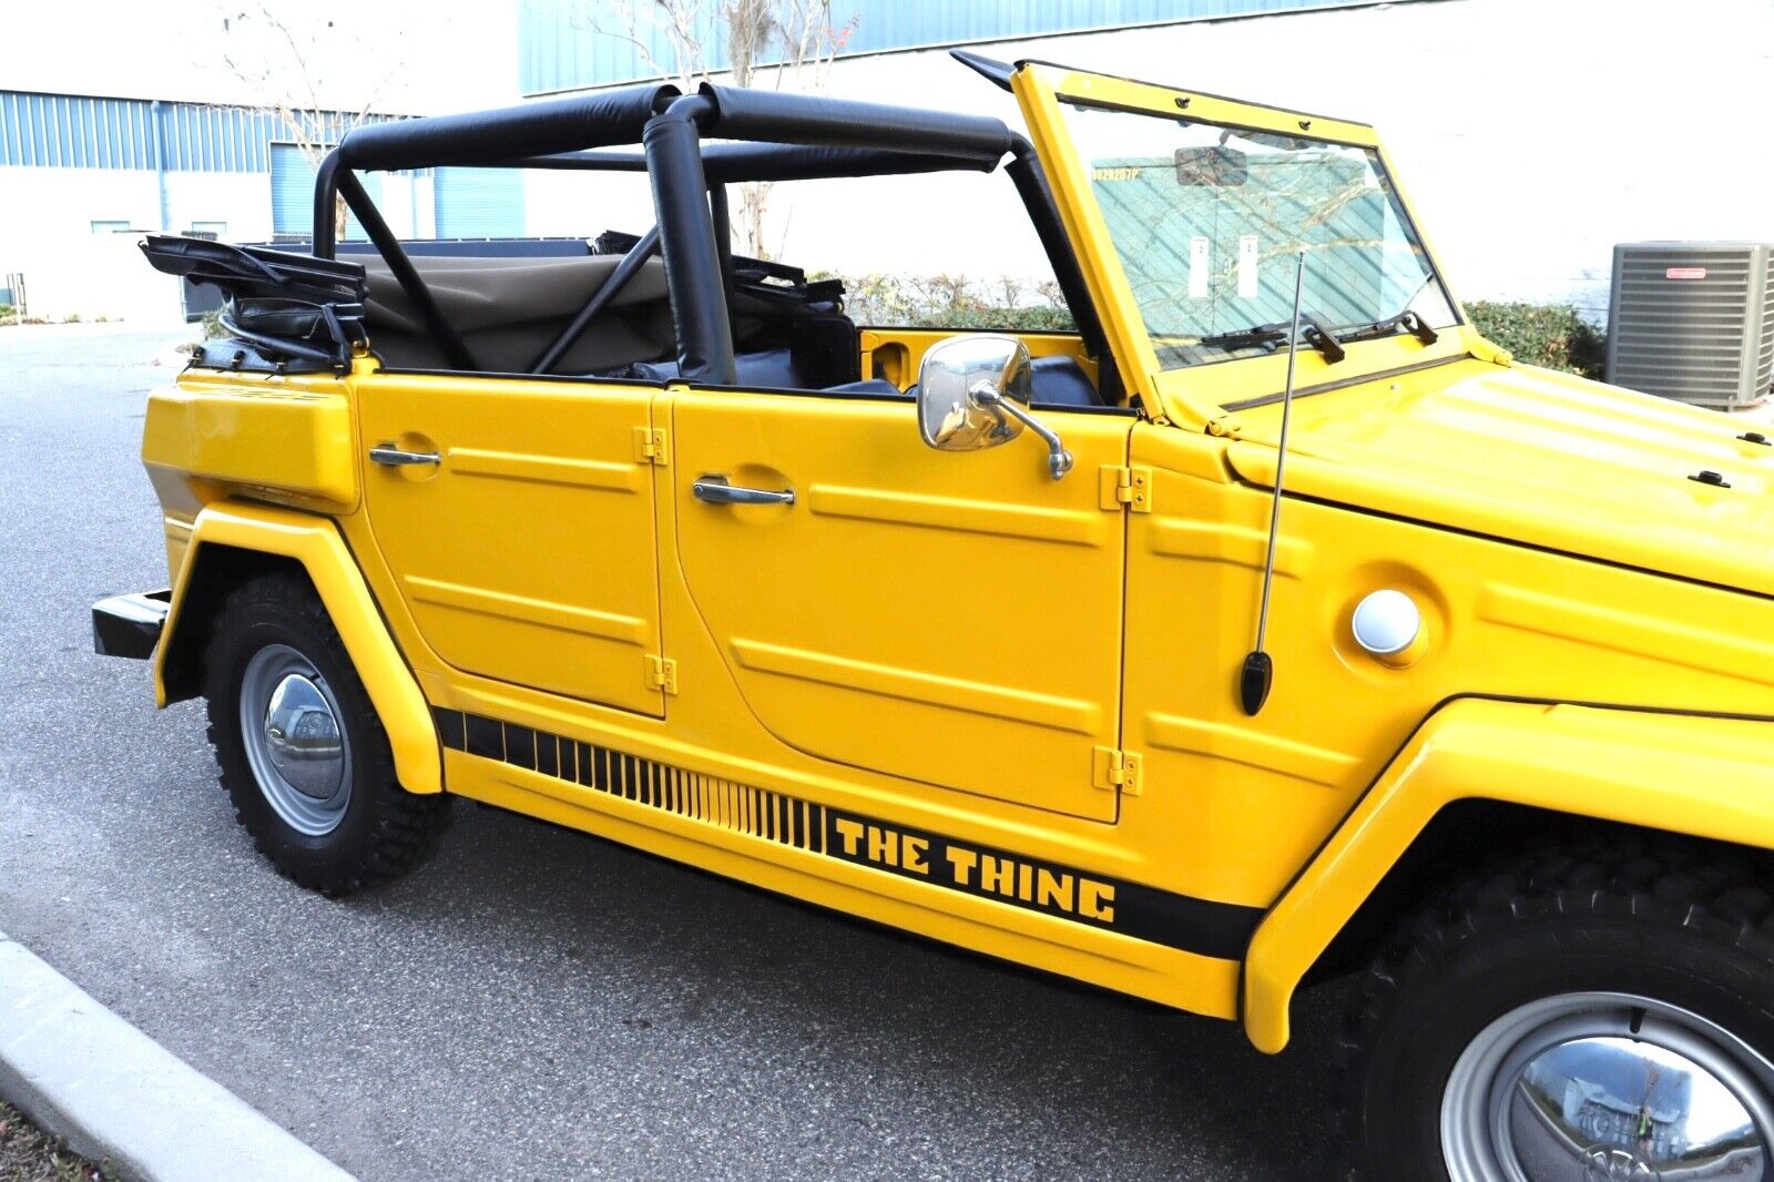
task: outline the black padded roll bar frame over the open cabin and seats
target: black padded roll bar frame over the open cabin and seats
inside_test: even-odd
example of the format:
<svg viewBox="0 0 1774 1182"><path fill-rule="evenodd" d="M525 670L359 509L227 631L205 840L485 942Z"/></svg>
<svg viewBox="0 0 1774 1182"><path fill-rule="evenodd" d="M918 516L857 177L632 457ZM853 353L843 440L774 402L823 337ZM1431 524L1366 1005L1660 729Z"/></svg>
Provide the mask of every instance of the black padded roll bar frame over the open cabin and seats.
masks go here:
<svg viewBox="0 0 1774 1182"><path fill-rule="evenodd" d="M703 146L703 137L740 140ZM640 140L640 153L596 151ZM1084 272L1032 146L985 115L853 103L704 83L697 94L642 85L465 115L365 124L328 153L314 183L314 256L337 250L334 206L344 197L394 279L458 369L474 355L444 318L406 250L364 192L355 169L523 167L648 172L685 380L731 385L733 254L726 185L997 169L1017 185L1091 357L1112 366ZM662 232L665 227L665 232ZM637 245L566 332L536 360L546 373L628 282L648 254ZM624 270L626 268L626 270ZM612 284L612 280L621 282ZM608 295L605 295L608 291ZM1112 373L1111 373L1112 376Z"/></svg>

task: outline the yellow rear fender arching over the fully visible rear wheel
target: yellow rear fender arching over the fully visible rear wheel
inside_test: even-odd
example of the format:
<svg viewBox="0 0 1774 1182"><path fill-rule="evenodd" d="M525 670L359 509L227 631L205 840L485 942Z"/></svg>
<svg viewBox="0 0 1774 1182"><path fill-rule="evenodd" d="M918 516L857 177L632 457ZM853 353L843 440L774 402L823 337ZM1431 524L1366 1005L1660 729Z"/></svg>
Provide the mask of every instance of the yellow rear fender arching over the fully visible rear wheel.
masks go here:
<svg viewBox="0 0 1774 1182"><path fill-rule="evenodd" d="M419 682L389 635L376 600L346 548L339 529L325 516L277 509L261 504L218 502L204 508L192 525L190 545L172 584L172 607L154 650L154 701L165 706L169 694L169 655L183 651L179 630L202 628L204 619L184 623L190 591L220 548L294 559L307 571L326 607L357 676L381 719L394 753L394 770L408 792L442 792L444 763L438 754L436 728Z"/></svg>

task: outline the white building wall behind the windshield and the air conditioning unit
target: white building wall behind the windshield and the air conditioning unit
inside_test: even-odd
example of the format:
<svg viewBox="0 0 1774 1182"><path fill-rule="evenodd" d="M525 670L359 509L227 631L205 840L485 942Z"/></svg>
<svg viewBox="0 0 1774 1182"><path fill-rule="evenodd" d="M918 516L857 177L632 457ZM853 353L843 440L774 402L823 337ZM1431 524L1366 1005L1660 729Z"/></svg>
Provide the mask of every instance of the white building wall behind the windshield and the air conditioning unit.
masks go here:
<svg viewBox="0 0 1774 1182"><path fill-rule="evenodd" d="M969 46L1373 122L1464 300L1605 316L1611 250L1774 240L1774 0L1433 0ZM791 85L784 82L784 85ZM832 64L827 91L1022 119L946 51ZM1004 177L777 186L782 257L844 273L1022 273ZM642 231L632 177L532 176L530 232Z"/></svg>

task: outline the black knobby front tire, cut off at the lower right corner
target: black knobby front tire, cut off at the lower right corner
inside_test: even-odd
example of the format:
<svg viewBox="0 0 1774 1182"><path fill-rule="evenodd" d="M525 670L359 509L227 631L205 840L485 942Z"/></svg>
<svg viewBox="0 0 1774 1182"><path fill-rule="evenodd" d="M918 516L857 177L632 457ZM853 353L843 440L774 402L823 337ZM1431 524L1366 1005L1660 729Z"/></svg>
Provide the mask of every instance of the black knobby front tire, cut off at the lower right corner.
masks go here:
<svg viewBox="0 0 1774 1182"><path fill-rule="evenodd" d="M1503 1015L1572 994L1676 1006L1774 1058L1765 863L1636 834L1522 855L1444 894L1382 951L1343 1033L1364 1178L1446 1182L1442 1097Z"/></svg>

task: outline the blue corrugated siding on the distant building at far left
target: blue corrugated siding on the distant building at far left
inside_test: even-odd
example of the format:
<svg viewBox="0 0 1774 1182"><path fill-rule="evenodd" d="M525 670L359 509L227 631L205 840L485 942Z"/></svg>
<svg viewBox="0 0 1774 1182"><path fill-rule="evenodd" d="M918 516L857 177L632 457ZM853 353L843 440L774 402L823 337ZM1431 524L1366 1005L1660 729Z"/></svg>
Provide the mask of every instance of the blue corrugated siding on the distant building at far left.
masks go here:
<svg viewBox="0 0 1774 1182"><path fill-rule="evenodd" d="M321 124L339 128L349 119L319 115ZM247 106L161 103L156 112L147 99L0 91L0 165L154 169L156 138L165 153L158 167L167 172L270 172L270 144L291 138L291 130L279 115Z"/></svg>

